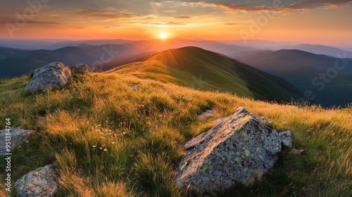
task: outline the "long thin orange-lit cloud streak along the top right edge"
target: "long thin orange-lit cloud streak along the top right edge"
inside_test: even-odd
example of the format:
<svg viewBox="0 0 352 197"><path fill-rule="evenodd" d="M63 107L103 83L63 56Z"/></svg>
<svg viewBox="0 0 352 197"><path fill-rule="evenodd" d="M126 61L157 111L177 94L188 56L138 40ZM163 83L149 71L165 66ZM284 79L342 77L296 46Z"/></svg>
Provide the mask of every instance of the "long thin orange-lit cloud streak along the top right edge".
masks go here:
<svg viewBox="0 0 352 197"><path fill-rule="evenodd" d="M272 6L263 5L246 5L246 4L235 4L226 2L183 2L183 6L191 7L212 7L220 8L227 11L243 12L243 13L290 13L293 11L309 11L315 8L336 8L347 5L352 5L352 0L311 0L311 1L300 1L294 4L284 5L282 0L273 1Z"/></svg>

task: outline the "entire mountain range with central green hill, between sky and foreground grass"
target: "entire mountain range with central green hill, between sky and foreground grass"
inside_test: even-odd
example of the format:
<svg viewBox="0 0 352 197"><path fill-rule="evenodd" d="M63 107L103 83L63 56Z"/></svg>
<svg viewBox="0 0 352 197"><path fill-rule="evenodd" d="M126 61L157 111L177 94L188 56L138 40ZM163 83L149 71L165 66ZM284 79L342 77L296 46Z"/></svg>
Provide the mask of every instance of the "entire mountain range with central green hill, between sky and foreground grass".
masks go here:
<svg viewBox="0 0 352 197"><path fill-rule="evenodd" d="M1 40L0 43L9 45ZM303 98L326 107L351 103L350 52L311 44L279 45L265 41L251 41L248 46L240 44L187 39L106 39L39 42L38 47L43 47L39 50L1 46L0 69L6 72L0 73L0 79L27 75L47 63L60 61L65 65L86 63L96 71L130 72L139 77L261 100L289 101L299 96L294 101ZM272 49L265 50L263 44ZM275 47L282 49L275 51ZM346 66L338 70L337 76L331 76L335 75L331 69L337 61ZM329 70L331 73L327 73ZM333 79L321 78L320 73ZM271 92L265 91L268 89Z"/></svg>

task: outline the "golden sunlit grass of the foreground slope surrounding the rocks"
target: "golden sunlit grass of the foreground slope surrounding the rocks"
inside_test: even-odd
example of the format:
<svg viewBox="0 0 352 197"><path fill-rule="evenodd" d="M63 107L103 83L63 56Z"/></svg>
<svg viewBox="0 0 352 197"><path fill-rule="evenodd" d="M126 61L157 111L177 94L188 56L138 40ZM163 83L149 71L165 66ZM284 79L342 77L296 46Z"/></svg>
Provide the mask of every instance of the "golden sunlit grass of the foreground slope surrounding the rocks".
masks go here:
<svg viewBox="0 0 352 197"><path fill-rule="evenodd" d="M294 148L305 152L284 150L261 184L218 196L352 195L351 108L298 108L118 73L87 74L63 89L34 93L23 90L27 82L0 81L0 119L38 131L13 150L12 178L54 163L56 196L184 196L173 182L182 146L239 106L291 130ZM207 109L215 116L197 120Z"/></svg>

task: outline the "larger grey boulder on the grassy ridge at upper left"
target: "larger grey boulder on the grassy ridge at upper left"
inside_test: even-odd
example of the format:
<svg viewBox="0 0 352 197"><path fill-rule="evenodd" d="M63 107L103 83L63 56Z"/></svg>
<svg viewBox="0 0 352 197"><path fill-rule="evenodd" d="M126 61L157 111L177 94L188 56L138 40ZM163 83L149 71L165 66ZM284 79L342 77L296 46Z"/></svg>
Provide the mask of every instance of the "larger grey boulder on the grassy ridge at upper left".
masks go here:
<svg viewBox="0 0 352 197"><path fill-rule="evenodd" d="M49 63L48 65L34 70L30 83L25 90L34 91L42 88L45 90L54 87L63 87L68 83L71 76L71 70L61 62Z"/></svg>

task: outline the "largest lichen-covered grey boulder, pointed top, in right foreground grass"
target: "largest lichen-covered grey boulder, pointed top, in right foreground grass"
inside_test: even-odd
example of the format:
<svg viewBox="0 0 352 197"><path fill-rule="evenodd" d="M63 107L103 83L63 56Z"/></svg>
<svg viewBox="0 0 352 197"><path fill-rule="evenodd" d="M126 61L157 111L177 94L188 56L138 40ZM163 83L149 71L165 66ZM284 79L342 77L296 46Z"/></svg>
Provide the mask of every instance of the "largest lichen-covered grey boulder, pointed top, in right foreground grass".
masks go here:
<svg viewBox="0 0 352 197"><path fill-rule="evenodd" d="M181 189L222 191L260 180L281 151L279 134L245 108L185 144L176 182Z"/></svg>

